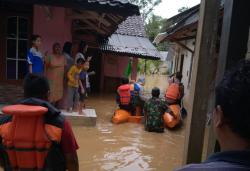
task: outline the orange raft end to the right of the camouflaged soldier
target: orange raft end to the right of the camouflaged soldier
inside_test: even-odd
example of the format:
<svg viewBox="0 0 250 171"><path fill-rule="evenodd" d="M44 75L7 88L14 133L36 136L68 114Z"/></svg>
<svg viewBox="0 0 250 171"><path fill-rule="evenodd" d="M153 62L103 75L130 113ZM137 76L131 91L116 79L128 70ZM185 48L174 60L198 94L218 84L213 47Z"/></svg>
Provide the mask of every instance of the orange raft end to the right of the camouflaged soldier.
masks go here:
<svg viewBox="0 0 250 171"><path fill-rule="evenodd" d="M163 120L167 128L174 128L181 122L180 106L175 104L170 105L169 108L172 113L166 112L163 115Z"/></svg>

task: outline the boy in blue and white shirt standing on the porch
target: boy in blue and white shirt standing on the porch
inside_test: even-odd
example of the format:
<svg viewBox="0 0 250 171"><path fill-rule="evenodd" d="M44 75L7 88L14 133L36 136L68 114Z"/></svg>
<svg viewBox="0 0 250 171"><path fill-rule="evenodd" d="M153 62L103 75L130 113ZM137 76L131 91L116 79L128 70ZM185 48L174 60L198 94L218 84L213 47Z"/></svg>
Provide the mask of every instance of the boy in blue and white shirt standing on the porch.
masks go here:
<svg viewBox="0 0 250 171"><path fill-rule="evenodd" d="M31 42L32 42L32 47L30 48L27 54L27 61L29 64L29 73L43 75L44 58L43 58L42 53L40 52L40 48L42 44L41 36L32 35Z"/></svg>

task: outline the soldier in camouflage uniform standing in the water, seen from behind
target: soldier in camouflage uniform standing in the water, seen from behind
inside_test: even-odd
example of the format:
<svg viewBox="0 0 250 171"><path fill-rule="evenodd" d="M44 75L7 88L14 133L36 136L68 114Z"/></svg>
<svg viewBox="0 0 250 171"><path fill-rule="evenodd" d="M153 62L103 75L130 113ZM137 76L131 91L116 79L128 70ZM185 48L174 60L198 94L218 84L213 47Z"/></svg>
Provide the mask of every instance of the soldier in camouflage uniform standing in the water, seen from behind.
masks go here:
<svg viewBox="0 0 250 171"><path fill-rule="evenodd" d="M163 115L168 107L159 96L160 89L153 88L152 98L144 106L145 130L149 132L164 132Z"/></svg>

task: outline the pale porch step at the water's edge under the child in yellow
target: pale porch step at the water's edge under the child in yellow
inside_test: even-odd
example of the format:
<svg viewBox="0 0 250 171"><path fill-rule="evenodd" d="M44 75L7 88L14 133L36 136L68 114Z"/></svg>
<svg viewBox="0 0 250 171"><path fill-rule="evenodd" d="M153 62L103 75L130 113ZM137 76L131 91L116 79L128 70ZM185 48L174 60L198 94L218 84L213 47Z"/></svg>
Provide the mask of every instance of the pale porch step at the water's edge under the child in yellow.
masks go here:
<svg viewBox="0 0 250 171"><path fill-rule="evenodd" d="M83 112L83 115L79 115L78 112L69 113L62 110L62 114L71 122L72 126L96 126L95 109L85 109Z"/></svg>

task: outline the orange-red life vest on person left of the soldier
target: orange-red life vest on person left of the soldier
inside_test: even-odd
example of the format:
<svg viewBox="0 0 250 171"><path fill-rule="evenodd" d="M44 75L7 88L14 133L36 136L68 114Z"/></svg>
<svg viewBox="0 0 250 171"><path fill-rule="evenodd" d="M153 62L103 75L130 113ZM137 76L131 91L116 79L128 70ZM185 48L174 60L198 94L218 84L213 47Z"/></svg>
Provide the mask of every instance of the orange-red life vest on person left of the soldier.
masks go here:
<svg viewBox="0 0 250 171"><path fill-rule="evenodd" d="M118 88L118 93L120 96L121 105L129 105L131 101L130 85L129 84L121 85Z"/></svg>

